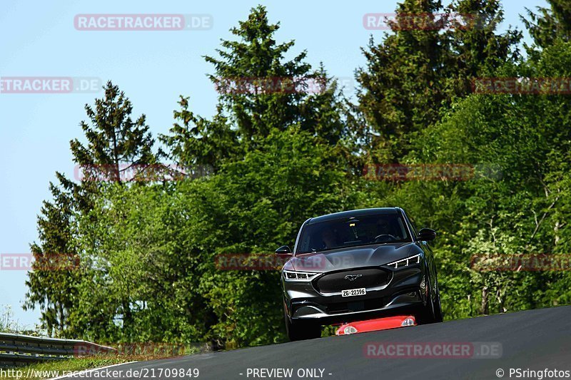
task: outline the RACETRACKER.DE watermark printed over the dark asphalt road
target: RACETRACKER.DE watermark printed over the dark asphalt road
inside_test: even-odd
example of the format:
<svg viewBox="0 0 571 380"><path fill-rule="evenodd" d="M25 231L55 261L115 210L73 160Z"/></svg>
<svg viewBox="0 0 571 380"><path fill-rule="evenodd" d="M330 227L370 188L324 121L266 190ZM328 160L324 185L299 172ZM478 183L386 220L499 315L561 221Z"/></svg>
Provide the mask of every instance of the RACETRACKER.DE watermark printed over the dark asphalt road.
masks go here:
<svg viewBox="0 0 571 380"><path fill-rule="evenodd" d="M498 359L500 342L368 342L363 355L378 359Z"/></svg>

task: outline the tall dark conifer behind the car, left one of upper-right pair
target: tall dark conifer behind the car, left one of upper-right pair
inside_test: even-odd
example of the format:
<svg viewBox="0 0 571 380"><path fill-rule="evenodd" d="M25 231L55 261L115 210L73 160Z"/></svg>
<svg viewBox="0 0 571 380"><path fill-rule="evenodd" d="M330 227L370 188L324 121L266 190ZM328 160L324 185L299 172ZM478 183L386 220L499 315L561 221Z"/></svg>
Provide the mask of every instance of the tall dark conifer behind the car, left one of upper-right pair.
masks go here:
<svg viewBox="0 0 571 380"><path fill-rule="evenodd" d="M396 162L408 152L411 133L438 118L444 100L442 37L438 30L416 30L401 24L410 15L442 10L440 1L403 1L391 24L395 32L381 43L371 37L368 47L362 49L367 63L357 72L362 87L359 106L375 135L367 147L375 162Z"/></svg>

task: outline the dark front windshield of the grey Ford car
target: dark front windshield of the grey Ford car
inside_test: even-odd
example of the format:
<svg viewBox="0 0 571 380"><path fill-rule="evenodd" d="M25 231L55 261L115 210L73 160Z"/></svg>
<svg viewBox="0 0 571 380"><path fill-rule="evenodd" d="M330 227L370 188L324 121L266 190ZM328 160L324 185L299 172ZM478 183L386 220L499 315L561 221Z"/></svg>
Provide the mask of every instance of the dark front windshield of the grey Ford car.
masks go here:
<svg viewBox="0 0 571 380"><path fill-rule="evenodd" d="M296 253L410 241L408 228L400 215L364 215L306 225Z"/></svg>

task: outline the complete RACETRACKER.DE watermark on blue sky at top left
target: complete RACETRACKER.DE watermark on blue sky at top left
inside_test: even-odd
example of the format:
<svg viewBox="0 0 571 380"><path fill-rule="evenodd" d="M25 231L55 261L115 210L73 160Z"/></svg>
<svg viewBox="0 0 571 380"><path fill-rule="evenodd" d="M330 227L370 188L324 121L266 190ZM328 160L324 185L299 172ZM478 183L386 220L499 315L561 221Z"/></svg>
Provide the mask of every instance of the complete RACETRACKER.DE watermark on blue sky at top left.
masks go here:
<svg viewBox="0 0 571 380"><path fill-rule="evenodd" d="M78 31L204 31L212 29L211 14L77 14Z"/></svg>

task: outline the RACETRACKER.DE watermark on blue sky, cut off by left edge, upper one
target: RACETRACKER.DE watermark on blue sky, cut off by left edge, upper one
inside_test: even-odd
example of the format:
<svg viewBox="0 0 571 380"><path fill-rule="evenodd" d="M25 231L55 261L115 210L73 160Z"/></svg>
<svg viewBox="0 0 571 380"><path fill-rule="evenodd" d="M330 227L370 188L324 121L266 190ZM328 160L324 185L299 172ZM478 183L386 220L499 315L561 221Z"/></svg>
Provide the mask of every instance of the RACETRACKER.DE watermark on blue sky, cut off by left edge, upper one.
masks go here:
<svg viewBox="0 0 571 380"><path fill-rule="evenodd" d="M101 78L71 76L0 76L0 94L97 93Z"/></svg>

